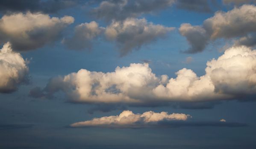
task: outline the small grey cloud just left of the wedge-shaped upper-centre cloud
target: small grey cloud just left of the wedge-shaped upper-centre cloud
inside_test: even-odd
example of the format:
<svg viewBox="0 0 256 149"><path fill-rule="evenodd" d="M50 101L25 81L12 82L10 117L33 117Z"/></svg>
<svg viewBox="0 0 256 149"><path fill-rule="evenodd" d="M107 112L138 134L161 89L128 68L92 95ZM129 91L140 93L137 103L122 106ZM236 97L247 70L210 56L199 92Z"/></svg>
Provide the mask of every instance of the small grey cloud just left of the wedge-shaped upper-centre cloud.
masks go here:
<svg viewBox="0 0 256 149"><path fill-rule="evenodd" d="M96 39L104 31L103 27L99 27L98 23L91 21L90 23L82 23L75 28L74 36L64 38L62 43L68 46L68 49L91 49L92 40Z"/></svg>

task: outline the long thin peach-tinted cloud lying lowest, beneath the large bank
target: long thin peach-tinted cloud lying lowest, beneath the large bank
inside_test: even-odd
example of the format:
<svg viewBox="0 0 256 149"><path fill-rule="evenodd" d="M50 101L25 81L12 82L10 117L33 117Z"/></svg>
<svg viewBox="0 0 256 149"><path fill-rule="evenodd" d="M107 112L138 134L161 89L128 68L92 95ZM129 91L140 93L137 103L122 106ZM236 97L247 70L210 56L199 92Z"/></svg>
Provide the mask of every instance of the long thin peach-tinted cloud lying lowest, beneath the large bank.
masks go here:
<svg viewBox="0 0 256 149"><path fill-rule="evenodd" d="M132 111L123 111L120 115L94 118L83 122L73 123L71 127L142 127L150 124L157 124L163 120L187 120L190 115L182 113L168 114L167 112L156 113L153 111L144 112L143 114L134 114Z"/></svg>

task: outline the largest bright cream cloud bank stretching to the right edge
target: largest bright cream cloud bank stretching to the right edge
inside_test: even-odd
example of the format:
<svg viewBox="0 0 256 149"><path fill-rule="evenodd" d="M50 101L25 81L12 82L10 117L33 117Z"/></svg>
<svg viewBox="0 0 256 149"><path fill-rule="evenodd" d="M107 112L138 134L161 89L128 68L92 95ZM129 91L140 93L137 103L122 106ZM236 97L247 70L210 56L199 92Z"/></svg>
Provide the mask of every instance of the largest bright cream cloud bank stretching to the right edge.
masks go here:
<svg viewBox="0 0 256 149"><path fill-rule="evenodd" d="M81 69L54 77L44 89L37 91L45 97L62 91L73 102L133 104L243 100L255 95L256 50L232 47L206 65L203 76L184 68L176 72L176 78L170 79L167 75L157 77L148 63L133 63L107 73Z"/></svg>

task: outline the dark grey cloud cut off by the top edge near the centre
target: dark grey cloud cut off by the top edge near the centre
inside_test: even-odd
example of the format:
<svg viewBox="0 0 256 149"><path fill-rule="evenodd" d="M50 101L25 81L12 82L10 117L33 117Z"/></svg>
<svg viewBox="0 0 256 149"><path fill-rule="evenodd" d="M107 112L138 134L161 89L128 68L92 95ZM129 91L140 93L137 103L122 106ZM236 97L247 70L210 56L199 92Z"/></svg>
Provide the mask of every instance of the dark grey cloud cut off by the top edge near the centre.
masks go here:
<svg viewBox="0 0 256 149"><path fill-rule="evenodd" d="M100 6L91 10L98 19L107 22L126 20L141 14L152 13L171 6L175 0L104 0Z"/></svg>

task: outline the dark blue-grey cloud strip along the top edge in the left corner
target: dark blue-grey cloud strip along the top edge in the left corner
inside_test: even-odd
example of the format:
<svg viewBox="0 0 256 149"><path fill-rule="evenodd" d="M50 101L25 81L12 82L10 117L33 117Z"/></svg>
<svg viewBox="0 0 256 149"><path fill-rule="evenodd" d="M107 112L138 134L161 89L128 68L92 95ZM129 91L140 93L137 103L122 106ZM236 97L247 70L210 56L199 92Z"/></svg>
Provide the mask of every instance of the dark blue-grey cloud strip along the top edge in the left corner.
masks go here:
<svg viewBox="0 0 256 149"><path fill-rule="evenodd" d="M56 13L78 4L79 0L0 0L0 12Z"/></svg>

